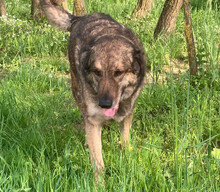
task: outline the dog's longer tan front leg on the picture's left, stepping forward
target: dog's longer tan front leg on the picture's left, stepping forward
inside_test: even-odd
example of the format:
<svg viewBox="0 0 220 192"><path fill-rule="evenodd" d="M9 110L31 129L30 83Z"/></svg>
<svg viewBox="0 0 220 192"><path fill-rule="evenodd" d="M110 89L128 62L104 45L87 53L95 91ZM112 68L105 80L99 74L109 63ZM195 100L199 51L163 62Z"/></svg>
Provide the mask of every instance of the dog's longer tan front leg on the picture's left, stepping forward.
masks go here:
<svg viewBox="0 0 220 192"><path fill-rule="evenodd" d="M86 142L90 149L91 162L95 165L95 177L104 169L102 158L101 126L94 125L91 121L85 122Z"/></svg>

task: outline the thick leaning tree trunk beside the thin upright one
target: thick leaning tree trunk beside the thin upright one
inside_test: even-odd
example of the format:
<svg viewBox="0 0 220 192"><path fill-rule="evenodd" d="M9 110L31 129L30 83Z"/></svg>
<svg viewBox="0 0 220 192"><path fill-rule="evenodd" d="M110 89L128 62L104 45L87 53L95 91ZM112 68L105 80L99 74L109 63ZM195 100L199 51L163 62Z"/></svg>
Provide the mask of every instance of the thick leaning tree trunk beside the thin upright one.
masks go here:
<svg viewBox="0 0 220 192"><path fill-rule="evenodd" d="M160 33L165 35L171 34L176 25L177 16L180 8L182 7L183 0L166 0L164 3L163 11L157 22L154 31L154 39L157 39Z"/></svg>

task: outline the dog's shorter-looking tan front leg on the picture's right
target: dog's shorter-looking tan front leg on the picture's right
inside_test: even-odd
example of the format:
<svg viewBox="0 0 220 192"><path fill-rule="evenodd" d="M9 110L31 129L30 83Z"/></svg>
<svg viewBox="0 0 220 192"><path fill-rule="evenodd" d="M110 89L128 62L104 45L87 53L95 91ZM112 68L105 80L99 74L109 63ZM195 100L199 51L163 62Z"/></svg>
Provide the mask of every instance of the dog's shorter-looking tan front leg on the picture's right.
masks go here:
<svg viewBox="0 0 220 192"><path fill-rule="evenodd" d="M122 145L125 146L129 141L129 132L132 124L134 110L128 114L120 124Z"/></svg>

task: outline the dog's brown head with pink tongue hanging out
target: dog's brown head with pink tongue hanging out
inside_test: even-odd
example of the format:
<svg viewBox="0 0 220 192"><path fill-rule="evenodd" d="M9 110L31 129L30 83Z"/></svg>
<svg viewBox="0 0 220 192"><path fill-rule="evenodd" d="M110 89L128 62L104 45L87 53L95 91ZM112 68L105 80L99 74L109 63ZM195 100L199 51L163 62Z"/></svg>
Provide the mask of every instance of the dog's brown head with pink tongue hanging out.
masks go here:
<svg viewBox="0 0 220 192"><path fill-rule="evenodd" d="M87 51L86 81L94 91L105 116L114 116L120 102L135 92L144 77L142 50L124 39L105 39Z"/></svg>

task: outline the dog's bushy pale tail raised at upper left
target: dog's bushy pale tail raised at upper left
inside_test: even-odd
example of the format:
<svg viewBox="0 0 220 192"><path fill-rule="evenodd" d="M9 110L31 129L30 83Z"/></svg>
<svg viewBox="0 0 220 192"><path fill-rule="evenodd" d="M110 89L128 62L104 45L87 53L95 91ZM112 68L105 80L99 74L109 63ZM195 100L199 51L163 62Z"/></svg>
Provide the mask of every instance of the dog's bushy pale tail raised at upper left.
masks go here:
<svg viewBox="0 0 220 192"><path fill-rule="evenodd" d="M78 18L50 0L41 0L41 7L49 22L62 30L70 31L73 21Z"/></svg>

